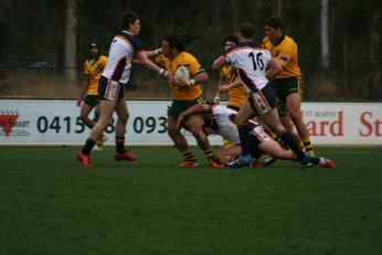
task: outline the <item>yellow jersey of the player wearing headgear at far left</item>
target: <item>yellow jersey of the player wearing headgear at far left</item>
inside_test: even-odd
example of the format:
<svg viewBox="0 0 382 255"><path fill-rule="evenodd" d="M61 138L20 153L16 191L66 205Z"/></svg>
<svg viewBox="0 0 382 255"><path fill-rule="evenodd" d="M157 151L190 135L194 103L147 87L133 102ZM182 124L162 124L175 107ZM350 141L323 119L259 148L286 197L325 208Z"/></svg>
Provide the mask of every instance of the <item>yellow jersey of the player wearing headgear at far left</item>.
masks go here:
<svg viewBox="0 0 382 255"><path fill-rule="evenodd" d="M107 56L100 55L94 63L89 60L85 61L84 75L89 77L89 88L87 95L98 95L98 81L106 66Z"/></svg>

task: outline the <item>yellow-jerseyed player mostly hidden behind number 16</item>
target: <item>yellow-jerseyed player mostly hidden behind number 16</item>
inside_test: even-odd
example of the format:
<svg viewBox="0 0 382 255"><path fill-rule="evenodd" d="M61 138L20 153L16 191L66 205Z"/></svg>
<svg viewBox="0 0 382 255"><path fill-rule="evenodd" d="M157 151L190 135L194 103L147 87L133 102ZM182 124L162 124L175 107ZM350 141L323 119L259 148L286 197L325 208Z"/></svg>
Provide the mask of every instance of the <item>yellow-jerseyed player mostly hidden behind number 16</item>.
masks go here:
<svg viewBox="0 0 382 255"><path fill-rule="evenodd" d="M231 47L237 44L238 39L236 35L230 34L223 39L224 52L229 52ZM219 89L214 102L219 104L221 94L225 92L229 92L229 103L226 107L236 111L240 110L248 98L248 93L245 91L237 71L231 64L226 64L220 70Z"/></svg>

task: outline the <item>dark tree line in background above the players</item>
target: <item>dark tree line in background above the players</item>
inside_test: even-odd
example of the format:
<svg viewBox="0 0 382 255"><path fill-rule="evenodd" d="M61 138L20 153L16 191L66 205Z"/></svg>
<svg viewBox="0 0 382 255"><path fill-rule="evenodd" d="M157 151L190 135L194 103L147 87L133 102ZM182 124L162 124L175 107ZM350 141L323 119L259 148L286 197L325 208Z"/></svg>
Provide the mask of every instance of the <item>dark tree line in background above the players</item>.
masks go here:
<svg viewBox="0 0 382 255"><path fill-rule="evenodd" d="M329 76L361 72L374 79L372 87L381 82L382 3L378 0L2 0L0 66L47 63L75 76L91 40L97 40L107 54L125 10L140 15L145 47L158 47L165 35L177 33L206 67L222 53L222 38L235 33L240 23L253 22L259 43L265 19L280 15L286 34L299 45L300 65L310 82L311 74L322 71Z"/></svg>

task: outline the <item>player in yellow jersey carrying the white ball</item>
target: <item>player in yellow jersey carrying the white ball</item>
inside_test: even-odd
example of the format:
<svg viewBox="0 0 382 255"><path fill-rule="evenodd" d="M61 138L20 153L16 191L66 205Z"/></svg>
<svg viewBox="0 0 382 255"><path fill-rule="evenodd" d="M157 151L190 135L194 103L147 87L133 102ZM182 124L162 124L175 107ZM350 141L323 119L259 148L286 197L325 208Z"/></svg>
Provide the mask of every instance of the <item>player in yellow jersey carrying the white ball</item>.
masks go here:
<svg viewBox="0 0 382 255"><path fill-rule="evenodd" d="M168 134L183 155L183 162L179 167L193 167L198 164L195 156L190 151L184 136L177 128L179 115L193 105L202 104L202 88L200 84L209 76L199 61L189 52L184 51L183 40L179 35L168 35L162 40L162 55L155 59L157 65L174 74L179 66L185 66L190 73L190 79L172 79L169 82L172 92L172 103L168 110ZM183 125L197 139L199 147L211 167L223 168L224 164L215 160L209 139L203 132L203 117L201 115L189 116Z"/></svg>

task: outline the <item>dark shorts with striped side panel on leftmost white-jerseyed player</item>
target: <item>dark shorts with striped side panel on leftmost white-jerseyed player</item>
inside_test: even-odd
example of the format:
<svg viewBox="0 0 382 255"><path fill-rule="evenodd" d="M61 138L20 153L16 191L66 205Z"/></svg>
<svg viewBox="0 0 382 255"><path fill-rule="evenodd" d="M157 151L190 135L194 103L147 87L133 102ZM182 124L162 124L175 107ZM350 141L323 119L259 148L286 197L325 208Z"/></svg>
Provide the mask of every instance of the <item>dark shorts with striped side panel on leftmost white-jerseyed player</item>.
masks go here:
<svg viewBox="0 0 382 255"><path fill-rule="evenodd" d="M98 82L98 95L99 99L114 100L118 103L124 98L125 84L113 79L108 79L104 76Z"/></svg>

